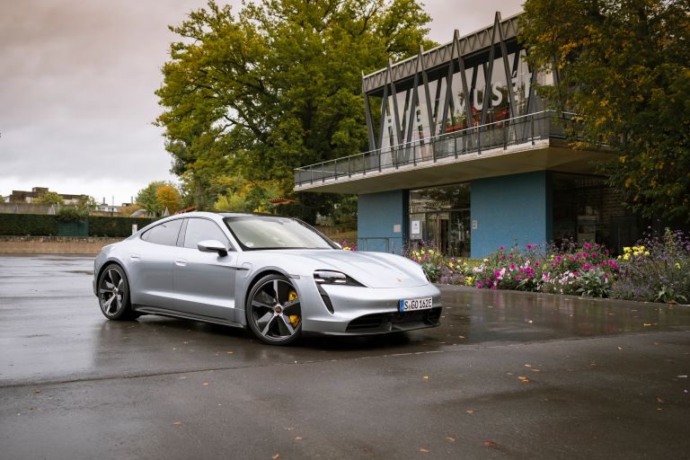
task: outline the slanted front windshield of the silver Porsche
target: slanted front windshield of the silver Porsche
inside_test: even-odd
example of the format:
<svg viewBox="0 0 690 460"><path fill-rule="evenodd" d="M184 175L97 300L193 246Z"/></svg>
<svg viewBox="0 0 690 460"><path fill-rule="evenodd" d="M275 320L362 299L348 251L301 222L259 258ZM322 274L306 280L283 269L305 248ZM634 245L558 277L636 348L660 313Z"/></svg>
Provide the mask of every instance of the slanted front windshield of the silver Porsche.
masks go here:
<svg viewBox="0 0 690 460"><path fill-rule="evenodd" d="M329 240L288 217L226 217L226 226L245 251L260 249L334 249Z"/></svg>

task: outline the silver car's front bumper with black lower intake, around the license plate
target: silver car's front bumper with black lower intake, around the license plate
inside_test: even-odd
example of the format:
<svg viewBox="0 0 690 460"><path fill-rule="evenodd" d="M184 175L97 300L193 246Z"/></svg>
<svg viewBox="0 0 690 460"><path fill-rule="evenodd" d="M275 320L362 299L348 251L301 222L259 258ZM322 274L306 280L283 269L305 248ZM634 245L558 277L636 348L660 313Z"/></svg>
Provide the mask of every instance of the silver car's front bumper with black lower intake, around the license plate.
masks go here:
<svg viewBox="0 0 690 460"><path fill-rule="evenodd" d="M313 282L313 281L312 281ZM412 331L440 324L441 293L432 284L412 288L321 286L301 289L302 330L337 335ZM305 290L308 298L305 298ZM323 293L327 296L323 298ZM398 311L401 299L432 298L432 308ZM331 305L327 305L330 302Z"/></svg>

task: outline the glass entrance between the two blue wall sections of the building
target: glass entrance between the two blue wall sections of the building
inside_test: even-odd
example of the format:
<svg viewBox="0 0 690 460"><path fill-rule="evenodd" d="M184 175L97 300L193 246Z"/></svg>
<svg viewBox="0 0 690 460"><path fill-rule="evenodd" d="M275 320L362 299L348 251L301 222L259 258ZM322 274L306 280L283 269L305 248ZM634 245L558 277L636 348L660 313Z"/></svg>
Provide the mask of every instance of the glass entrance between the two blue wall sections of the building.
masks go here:
<svg viewBox="0 0 690 460"><path fill-rule="evenodd" d="M451 257L470 256L470 186L410 190L410 241Z"/></svg>

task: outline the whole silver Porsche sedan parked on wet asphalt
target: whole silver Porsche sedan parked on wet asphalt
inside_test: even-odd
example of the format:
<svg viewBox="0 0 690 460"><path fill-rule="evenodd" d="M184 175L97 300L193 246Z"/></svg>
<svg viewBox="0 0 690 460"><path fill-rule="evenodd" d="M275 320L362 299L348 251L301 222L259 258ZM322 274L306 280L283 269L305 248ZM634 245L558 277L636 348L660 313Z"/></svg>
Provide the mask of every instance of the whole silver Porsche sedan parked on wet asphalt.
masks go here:
<svg viewBox="0 0 690 460"><path fill-rule="evenodd" d="M162 314L249 327L273 345L302 332L370 334L438 326L441 298L420 266L341 250L299 220L194 212L105 246L93 292L110 320Z"/></svg>

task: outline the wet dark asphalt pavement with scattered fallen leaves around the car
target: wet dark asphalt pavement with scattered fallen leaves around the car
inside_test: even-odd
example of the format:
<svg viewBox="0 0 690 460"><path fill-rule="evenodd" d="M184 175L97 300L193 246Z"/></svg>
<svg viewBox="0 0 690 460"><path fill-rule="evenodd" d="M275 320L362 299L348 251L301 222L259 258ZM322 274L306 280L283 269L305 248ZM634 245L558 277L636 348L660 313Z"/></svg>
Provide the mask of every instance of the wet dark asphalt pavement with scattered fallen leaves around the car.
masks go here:
<svg viewBox="0 0 690 460"><path fill-rule="evenodd" d="M0 256L0 458L688 458L690 307L446 287L443 325L263 345L108 322Z"/></svg>

